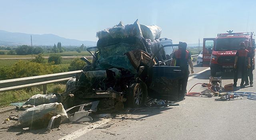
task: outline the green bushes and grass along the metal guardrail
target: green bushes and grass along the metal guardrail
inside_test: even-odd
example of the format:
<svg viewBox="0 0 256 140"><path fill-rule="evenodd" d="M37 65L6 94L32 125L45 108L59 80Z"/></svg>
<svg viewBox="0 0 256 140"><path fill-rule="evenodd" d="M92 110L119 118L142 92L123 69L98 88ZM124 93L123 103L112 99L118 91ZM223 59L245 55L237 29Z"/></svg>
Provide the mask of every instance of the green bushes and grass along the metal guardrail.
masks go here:
<svg viewBox="0 0 256 140"><path fill-rule="evenodd" d="M62 59L62 56L59 54L50 54L48 59L43 58L42 54L38 54L34 59L30 60L3 60L0 63L5 62L8 64L12 61L15 61L14 64L9 66L0 65L0 80L82 70L85 65L85 62L80 60L80 58ZM65 83L48 84L48 93L64 92L66 88ZM1 92L0 107L8 106L12 102L24 102L35 94L42 94L42 86Z"/></svg>

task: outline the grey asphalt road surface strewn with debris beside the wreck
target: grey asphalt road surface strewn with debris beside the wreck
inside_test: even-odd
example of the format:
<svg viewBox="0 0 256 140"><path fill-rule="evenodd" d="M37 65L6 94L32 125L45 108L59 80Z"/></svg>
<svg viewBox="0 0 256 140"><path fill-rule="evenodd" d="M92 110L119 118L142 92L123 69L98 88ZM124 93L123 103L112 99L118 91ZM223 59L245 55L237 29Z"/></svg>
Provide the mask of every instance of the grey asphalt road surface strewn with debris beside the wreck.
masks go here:
<svg viewBox="0 0 256 140"><path fill-rule="evenodd" d="M196 83L209 82L210 70L195 67L190 74L187 90ZM220 75L220 73L219 73ZM222 86L233 82L232 74L222 73ZM254 70L254 79L256 72ZM238 80L238 85L240 80ZM205 88L195 86L192 92ZM236 91L255 92L255 87ZM22 130L6 127L16 121L2 124L1 140L255 140L256 101L236 99L214 101L215 98L186 97L179 106L145 107L142 112L131 113L128 109L118 112L112 118L95 119L93 123L62 124L60 130ZM12 114L0 114L0 122Z"/></svg>

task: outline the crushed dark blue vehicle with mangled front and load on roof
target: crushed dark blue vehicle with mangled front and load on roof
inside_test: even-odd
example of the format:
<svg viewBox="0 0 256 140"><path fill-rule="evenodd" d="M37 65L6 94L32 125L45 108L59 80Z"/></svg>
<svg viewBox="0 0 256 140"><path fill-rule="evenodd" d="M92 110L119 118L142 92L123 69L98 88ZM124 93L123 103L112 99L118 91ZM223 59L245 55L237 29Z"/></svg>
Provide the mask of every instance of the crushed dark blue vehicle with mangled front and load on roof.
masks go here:
<svg viewBox="0 0 256 140"><path fill-rule="evenodd" d="M65 108L99 100L98 111L143 106L148 97L177 101L182 70L170 66L171 54L159 39L161 28L139 24L123 25L97 32L96 47L87 48L92 62L86 62L81 75L66 84L60 94ZM170 50L170 49L169 49Z"/></svg>

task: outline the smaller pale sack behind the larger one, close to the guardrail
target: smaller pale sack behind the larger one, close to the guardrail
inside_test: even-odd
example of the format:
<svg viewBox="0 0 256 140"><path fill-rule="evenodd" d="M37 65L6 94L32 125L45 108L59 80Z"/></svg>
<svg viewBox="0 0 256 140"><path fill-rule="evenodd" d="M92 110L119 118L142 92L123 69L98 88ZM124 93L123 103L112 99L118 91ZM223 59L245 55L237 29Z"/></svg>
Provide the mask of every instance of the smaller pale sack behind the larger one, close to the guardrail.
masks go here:
<svg viewBox="0 0 256 140"><path fill-rule="evenodd" d="M40 104L49 104L59 102L56 94L36 94L29 98L24 104L38 106Z"/></svg>

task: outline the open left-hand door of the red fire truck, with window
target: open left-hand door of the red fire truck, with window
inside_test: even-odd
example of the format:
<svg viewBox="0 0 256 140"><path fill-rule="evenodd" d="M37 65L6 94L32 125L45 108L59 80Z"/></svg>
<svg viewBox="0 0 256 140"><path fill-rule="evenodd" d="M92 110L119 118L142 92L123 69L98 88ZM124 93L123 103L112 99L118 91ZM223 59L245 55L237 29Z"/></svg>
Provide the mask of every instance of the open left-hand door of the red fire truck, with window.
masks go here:
<svg viewBox="0 0 256 140"><path fill-rule="evenodd" d="M204 38L203 40L203 66L210 66L214 42L215 38Z"/></svg>

